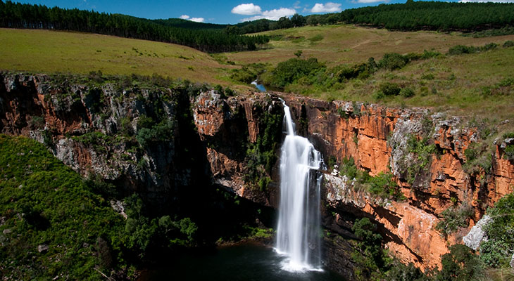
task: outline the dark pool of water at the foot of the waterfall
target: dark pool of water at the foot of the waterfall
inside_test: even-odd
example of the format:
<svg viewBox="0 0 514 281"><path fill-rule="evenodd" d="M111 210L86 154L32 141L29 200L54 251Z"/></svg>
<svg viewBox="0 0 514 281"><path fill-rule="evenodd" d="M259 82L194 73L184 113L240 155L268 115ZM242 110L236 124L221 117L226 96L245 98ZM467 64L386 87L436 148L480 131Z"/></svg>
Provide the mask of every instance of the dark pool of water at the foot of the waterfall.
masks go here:
<svg viewBox="0 0 514 281"><path fill-rule="evenodd" d="M289 273L280 269L283 260L270 247L242 244L184 255L167 268L147 271L141 280L344 281L329 270Z"/></svg>

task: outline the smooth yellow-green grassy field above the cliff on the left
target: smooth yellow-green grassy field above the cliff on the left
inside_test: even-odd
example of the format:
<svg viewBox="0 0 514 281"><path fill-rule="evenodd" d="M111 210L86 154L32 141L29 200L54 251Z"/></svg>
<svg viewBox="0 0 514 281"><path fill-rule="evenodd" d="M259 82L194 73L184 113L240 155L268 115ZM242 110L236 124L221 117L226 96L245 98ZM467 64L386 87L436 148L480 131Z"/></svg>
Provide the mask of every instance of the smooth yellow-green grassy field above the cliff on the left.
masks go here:
<svg viewBox="0 0 514 281"><path fill-rule="evenodd" d="M0 29L0 69L85 74L153 73L192 81L222 83L222 69L207 53L154 41L49 30Z"/></svg>

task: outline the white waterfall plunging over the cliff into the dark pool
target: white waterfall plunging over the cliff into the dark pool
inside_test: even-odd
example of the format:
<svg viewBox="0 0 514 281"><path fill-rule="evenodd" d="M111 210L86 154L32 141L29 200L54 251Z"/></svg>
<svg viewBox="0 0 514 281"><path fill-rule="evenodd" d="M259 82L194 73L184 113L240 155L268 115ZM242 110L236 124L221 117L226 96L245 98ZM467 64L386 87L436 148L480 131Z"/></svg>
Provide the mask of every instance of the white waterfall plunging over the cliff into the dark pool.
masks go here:
<svg viewBox="0 0 514 281"><path fill-rule="evenodd" d="M280 206L277 251L287 255L282 268L320 270L320 169L322 158L307 138L296 136L284 105L287 135L280 155Z"/></svg>

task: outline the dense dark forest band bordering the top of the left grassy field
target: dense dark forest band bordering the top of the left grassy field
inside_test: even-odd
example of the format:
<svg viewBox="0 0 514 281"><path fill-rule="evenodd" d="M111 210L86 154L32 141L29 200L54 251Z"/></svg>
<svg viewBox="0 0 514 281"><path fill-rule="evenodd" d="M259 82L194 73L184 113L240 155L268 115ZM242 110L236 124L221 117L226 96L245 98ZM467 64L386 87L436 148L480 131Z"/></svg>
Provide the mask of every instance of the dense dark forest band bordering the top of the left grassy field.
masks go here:
<svg viewBox="0 0 514 281"><path fill-rule="evenodd" d="M227 34L222 30L180 28L128 15L78 9L48 8L0 0L0 27L94 32L134 39L163 41L200 51L255 50L268 43L266 36Z"/></svg>

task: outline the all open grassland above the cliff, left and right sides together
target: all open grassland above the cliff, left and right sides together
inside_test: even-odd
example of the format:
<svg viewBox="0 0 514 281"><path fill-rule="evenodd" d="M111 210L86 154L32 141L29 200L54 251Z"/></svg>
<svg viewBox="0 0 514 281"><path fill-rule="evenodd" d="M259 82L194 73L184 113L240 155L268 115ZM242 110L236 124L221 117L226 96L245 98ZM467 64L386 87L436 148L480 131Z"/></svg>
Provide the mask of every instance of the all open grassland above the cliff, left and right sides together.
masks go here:
<svg viewBox="0 0 514 281"><path fill-rule="evenodd" d="M501 88L500 93L491 88L514 77L514 68L510 67L514 63L514 48L501 47L503 42L514 40L514 35L472 38L458 32L389 32L353 25L309 26L263 33L275 38L270 48L208 55L174 44L99 34L0 29L0 40L6 46L0 49L0 69L80 74L92 70L104 74L157 73L223 86L232 84L234 89L247 91L251 89L248 85L230 78L233 69L249 63L277 65L294 58L298 50L303 51L301 58L315 57L332 67L365 63L370 57L378 61L388 52L406 54L433 49L446 53L459 44L484 46L495 42L500 47L492 51L415 61L400 70L380 70L368 79L351 79L339 89L294 85L285 90L327 100L433 107L451 115L493 117L496 121L513 117L513 86ZM377 100L374 94L384 82L408 87L414 96Z"/></svg>

